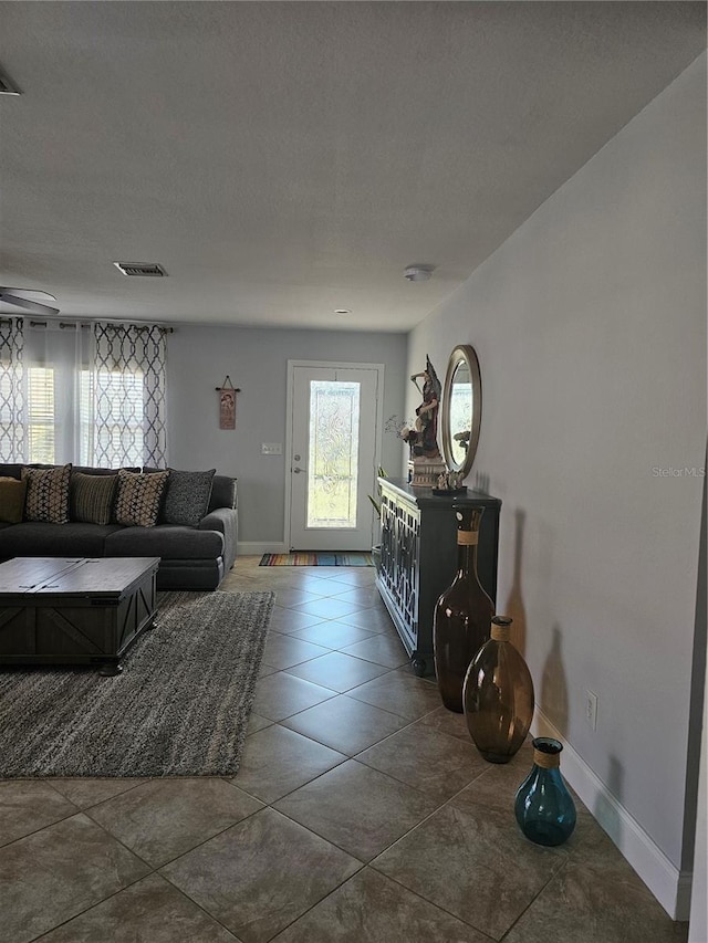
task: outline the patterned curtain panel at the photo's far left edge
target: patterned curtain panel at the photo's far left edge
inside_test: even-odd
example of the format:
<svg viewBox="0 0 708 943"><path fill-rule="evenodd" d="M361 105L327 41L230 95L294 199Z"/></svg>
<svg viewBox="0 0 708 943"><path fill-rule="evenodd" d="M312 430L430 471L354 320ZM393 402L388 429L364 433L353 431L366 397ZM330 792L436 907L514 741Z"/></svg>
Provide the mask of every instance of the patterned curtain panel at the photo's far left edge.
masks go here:
<svg viewBox="0 0 708 943"><path fill-rule="evenodd" d="M0 319L0 461L27 461L24 321Z"/></svg>

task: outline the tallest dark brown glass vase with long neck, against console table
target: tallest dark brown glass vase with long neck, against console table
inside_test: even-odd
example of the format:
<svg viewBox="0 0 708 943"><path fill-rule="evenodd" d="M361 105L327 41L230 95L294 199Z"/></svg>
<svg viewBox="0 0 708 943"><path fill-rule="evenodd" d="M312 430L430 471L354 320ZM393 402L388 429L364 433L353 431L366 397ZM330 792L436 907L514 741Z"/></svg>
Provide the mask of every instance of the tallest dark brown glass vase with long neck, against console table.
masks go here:
<svg viewBox="0 0 708 943"><path fill-rule="evenodd" d="M489 639L494 605L477 576L482 507L452 505L457 516L457 574L435 607L433 652L442 703L462 713L462 685L470 661Z"/></svg>

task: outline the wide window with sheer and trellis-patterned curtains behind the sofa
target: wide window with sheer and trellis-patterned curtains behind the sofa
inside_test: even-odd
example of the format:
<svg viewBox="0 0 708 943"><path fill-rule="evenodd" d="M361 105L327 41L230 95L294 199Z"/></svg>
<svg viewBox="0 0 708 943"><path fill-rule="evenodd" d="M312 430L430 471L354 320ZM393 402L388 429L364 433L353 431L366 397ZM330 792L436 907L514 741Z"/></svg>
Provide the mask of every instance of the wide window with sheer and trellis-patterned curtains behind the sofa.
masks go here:
<svg viewBox="0 0 708 943"><path fill-rule="evenodd" d="M165 329L0 319L0 461L167 463Z"/></svg>

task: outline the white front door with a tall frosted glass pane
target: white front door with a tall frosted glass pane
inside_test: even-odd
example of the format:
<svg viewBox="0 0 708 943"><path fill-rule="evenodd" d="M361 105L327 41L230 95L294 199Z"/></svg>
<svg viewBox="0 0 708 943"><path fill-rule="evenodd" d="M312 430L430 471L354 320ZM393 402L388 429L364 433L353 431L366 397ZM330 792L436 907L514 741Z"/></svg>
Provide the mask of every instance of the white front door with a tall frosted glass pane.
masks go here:
<svg viewBox="0 0 708 943"><path fill-rule="evenodd" d="M369 551L381 434L381 364L290 371L290 547Z"/></svg>

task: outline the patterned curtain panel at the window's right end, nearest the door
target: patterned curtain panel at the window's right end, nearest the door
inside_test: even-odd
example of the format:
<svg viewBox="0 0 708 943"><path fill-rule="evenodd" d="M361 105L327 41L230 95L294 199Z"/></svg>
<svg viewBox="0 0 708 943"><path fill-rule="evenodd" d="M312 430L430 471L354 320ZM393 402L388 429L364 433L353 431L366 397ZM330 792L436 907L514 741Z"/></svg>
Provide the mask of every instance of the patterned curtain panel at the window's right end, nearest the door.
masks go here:
<svg viewBox="0 0 708 943"><path fill-rule="evenodd" d="M94 324L93 463L167 464L165 331Z"/></svg>

